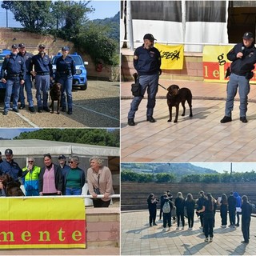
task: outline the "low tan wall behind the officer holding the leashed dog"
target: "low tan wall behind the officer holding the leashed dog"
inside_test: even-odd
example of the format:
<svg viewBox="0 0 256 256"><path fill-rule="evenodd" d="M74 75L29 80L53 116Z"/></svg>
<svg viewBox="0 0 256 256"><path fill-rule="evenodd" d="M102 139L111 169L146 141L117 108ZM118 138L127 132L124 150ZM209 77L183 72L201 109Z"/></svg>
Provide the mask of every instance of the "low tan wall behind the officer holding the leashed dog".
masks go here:
<svg viewBox="0 0 256 256"><path fill-rule="evenodd" d="M121 59L121 78L122 81L132 81L132 74L136 72L134 69L133 55L134 53L127 49L122 49ZM162 70L161 79L169 80L203 80L202 53L184 53L184 62L182 70Z"/></svg>

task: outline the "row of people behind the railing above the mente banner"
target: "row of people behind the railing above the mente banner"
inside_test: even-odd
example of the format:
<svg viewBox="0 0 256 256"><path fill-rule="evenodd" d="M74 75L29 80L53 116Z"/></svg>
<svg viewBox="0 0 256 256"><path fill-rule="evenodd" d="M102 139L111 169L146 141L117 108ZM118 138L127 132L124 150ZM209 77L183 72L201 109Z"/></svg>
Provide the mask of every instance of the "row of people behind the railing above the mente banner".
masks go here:
<svg viewBox="0 0 256 256"><path fill-rule="evenodd" d="M1 154L1 152L0 152ZM82 187L86 183L85 171L78 167L79 158L70 156L68 165L65 155L58 157L58 164L52 161L50 154L43 155L44 166L36 165L33 157L27 158L27 166L20 168L13 159L13 150L5 150L5 160L0 161L0 175L8 174L14 182L22 179L26 196L50 196L50 195L81 195ZM114 194L112 186L112 175L108 167L103 166L102 158L94 156L90 158L90 168L87 170L88 194L92 195L94 207L108 207L110 205L110 194ZM94 189L103 198L97 198ZM2 195L5 188L2 188Z"/></svg>

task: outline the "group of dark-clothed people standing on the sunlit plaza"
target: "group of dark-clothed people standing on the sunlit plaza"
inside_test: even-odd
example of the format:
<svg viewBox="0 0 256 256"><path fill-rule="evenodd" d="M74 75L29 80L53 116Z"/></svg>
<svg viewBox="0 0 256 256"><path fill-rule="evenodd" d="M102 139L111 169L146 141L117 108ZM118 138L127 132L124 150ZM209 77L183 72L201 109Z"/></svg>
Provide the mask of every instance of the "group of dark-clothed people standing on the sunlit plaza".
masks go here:
<svg viewBox="0 0 256 256"><path fill-rule="evenodd" d="M160 214L159 220L163 216L163 231L169 231L171 226L171 218L177 218L177 228L180 227L184 230L185 217L188 220L188 229L193 230L194 226L194 213L200 218L203 233L205 234L205 242L212 242L214 238L215 214L217 206L220 207L220 216L222 218L222 228L226 228L227 214L229 213L230 226L235 228L240 226L240 215L242 216L242 234L244 240L242 242L248 243L250 239L250 215L252 213L252 206L250 205L246 195L242 198L238 192L230 192L227 197L222 194L222 197L217 200L210 193L200 191L198 199L194 199L192 194L187 194L183 198L182 192L178 192L177 197L174 199L170 194L170 190L164 192L160 200L150 194L147 198L148 209L150 212L150 226L157 225L155 222L157 215L157 204L160 201ZM174 214L174 211L176 213ZM174 216L175 215L175 216ZM235 221L237 219L237 221ZM166 230L166 226L168 229Z"/></svg>

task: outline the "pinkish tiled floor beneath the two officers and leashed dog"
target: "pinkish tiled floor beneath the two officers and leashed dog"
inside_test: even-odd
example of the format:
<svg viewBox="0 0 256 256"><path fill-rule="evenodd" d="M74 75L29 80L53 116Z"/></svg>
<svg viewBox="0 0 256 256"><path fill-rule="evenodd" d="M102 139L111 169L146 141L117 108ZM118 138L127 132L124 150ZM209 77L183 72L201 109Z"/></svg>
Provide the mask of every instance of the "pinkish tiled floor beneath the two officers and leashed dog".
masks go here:
<svg viewBox="0 0 256 256"><path fill-rule="evenodd" d="M234 102L233 121L221 124L226 84L160 80L162 86L178 84L193 94L193 118L178 117L167 122L166 90L159 87L154 118L146 122L146 99L135 116L136 126L127 126L131 82L122 82L122 162L254 162L256 158L256 86L252 85L247 112L248 123L239 121L239 102ZM236 97L238 100L238 96ZM181 112L182 110L180 110ZM174 110L173 110L174 112ZM174 114L174 113L173 113Z"/></svg>

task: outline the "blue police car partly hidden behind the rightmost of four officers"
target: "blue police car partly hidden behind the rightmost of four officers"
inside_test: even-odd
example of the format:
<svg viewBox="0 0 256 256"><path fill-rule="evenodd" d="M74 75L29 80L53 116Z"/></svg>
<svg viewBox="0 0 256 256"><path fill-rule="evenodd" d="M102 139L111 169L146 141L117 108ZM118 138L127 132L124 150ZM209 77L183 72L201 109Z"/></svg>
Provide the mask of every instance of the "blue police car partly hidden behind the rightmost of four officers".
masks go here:
<svg viewBox="0 0 256 256"><path fill-rule="evenodd" d="M88 65L88 62L83 62L82 58L80 55L77 53L74 54L69 54L75 62L75 70L76 73L74 74L73 77L73 88L74 87L80 87L81 90L86 90L87 88L87 70L86 70L86 65ZM52 62L53 62L53 70L54 70L54 76L56 72L56 62L59 57L61 57L62 54L58 53L57 55L54 56Z"/></svg>

